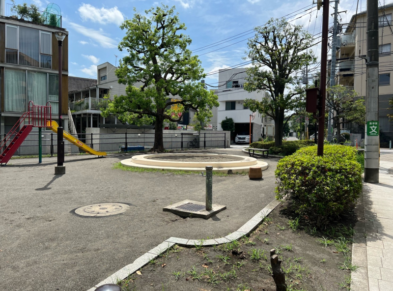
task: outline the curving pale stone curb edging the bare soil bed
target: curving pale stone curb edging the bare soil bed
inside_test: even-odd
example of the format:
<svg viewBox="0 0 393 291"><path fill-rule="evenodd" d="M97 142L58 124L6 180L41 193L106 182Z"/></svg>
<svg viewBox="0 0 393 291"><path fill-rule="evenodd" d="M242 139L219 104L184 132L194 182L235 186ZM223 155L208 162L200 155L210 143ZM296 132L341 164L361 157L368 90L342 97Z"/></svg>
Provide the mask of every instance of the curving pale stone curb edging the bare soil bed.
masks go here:
<svg viewBox="0 0 393 291"><path fill-rule="evenodd" d="M140 268L147 265L150 260L158 258L161 254L165 253L170 248L174 247L176 244L184 247L194 247L194 246L213 246L218 244L224 244L227 242L231 242L233 240L237 240L244 235L249 235L254 229L256 229L259 224L262 223L263 219L269 215L270 212L273 211L274 208L277 207L281 202L277 200L273 200L266 207L264 207L261 211L253 216L248 222L246 222L242 227L240 227L237 231L226 235L225 237L215 238L215 239L187 239L180 237L169 237L162 243L160 243L155 248L151 249L147 253L140 256L133 263L126 265L121 268L117 272L113 273L111 276L101 281L94 287L90 288L87 291L95 291L101 285L104 284L116 284L119 280L123 280L127 278L129 275L135 273Z"/></svg>

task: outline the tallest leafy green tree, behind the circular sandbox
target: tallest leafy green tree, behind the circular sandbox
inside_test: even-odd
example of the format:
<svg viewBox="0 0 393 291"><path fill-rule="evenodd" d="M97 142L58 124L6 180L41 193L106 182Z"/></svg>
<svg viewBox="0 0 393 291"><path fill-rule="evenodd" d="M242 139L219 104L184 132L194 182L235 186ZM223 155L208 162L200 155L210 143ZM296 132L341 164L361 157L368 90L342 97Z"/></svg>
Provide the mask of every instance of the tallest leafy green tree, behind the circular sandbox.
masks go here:
<svg viewBox="0 0 393 291"><path fill-rule="evenodd" d="M186 26L175 7L134 11L134 17L120 26L126 35L118 49L129 55L120 60L115 71L118 82L127 85L126 95L115 97L102 115L117 114L121 121L152 119L152 150L164 151L164 120L180 121L189 108L206 119L211 108L219 105L218 97L200 83L205 75L200 60L187 48L191 38L183 33ZM171 109L172 105L176 109Z"/></svg>

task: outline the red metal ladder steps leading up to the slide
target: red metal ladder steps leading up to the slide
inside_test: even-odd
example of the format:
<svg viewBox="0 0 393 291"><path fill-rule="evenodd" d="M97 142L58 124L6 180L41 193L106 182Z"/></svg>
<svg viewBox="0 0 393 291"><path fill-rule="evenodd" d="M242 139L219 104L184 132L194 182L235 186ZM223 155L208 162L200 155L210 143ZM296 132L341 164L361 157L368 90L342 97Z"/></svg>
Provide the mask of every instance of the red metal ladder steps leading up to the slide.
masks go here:
<svg viewBox="0 0 393 291"><path fill-rule="evenodd" d="M0 142L0 165L7 164L18 147L22 145L30 133L33 125L25 124L25 118L29 117L29 112L25 112L18 122L12 127L4 139ZM19 129L22 125L22 128Z"/></svg>

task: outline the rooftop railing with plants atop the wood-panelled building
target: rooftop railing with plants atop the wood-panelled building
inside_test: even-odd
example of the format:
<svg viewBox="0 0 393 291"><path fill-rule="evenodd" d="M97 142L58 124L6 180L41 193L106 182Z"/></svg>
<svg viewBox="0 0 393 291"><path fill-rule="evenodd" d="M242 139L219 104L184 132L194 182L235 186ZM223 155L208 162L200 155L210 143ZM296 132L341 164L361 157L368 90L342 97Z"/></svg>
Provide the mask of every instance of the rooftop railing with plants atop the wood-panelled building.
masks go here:
<svg viewBox="0 0 393 291"><path fill-rule="evenodd" d="M7 3L6 16L39 25L43 24L61 28L61 15L48 11L39 11L36 7L28 6L26 3L23 5Z"/></svg>

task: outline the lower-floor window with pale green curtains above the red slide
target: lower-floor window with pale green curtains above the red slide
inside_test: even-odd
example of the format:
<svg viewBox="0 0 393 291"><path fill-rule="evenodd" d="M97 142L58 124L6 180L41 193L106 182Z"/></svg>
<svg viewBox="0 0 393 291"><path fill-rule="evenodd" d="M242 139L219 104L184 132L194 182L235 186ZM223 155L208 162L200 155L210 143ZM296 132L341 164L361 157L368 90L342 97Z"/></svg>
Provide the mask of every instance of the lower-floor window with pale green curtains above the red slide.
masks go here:
<svg viewBox="0 0 393 291"><path fill-rule="evenodd" d="M58 76L43 72L4 70L4 110L26 112L27 104L52 105L52 113L58 114Z"/></svg>

